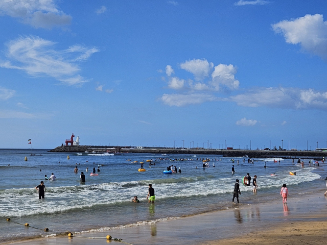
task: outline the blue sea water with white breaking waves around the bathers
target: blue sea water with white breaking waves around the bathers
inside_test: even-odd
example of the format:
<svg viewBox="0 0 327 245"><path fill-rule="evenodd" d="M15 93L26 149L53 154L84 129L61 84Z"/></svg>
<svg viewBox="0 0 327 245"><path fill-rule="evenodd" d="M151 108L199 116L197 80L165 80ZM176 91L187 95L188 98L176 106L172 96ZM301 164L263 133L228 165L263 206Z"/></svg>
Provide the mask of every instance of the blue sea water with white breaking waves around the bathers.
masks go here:
<svg viewBox="0 0 327 245"><path fill-rule="evenodd" d="M35 156L30 156L31 153ZM28 161L24 160L25 156ZM171 160L180 158L188 160ZM210 167L202 169L201 158L209 158ZM146 162L150 159L155 163L151 167ZM226 209L235 206L231 198L236 179L240 180L242 192L240 205L278 199L284 183L290 195L320 191L325 185L322 180L326 172L321 161L320 166L316 167L313 164L309 166L306 160L305 168L301 168L296 165L296 160L293 164L291 159L283 158L277 159L277 162L254 159L253 164L248 163L247 158L245 162L243 158L234 160L233 163L231 158L221 155L113 155L0 150L0 242L57 235L66 231L116 229ZM144 162L145 172L138 171L139 162ZM90 176L92 168L97 169L98 165L101 169L97 172L99 175ZM181 174L163 174L162 171L169 165L180 167ZM235 165L235 174L231 173L232 165ZM76 166L79 169L77 174L74 173ZM85 183L79 181L81 171L85 174ZM289 175L290 171L296 171L296 176ZM44 175L50 177L51 173L57 179L45 180ZM242 185L246 173L252 179L254 175L258 177L258 193L254 194L252 187ZM277 176L271 177L273 173ZM46 188L44 200L38 199L35 189L40 181L44 181ZM155 189L154 205L146 200L149 183ZM131 202L134 195L141 203ZM8 217L13 222L7 222ZM25 227L25 223L29 223L30 227ZM48 228L49 232L45 233L44 228Z"/></svg>

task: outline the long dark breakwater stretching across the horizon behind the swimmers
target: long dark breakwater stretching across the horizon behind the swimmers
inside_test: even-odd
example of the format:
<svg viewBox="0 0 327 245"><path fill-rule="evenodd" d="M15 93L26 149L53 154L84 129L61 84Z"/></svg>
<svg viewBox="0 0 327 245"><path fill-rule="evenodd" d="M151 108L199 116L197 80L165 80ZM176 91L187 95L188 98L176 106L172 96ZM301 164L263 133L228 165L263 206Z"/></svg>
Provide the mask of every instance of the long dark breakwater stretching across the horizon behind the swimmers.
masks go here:
<svg viewBox="0 0 327 245"><path fill-rule="evenodd" d="M190 155L224 155L228 157L289 157L289 158L322 158L327 157L324 151L264 151L264 150L224 150L224 149L182 149L182 148L153 148L133 146L106 146L106 145L61 145L50 152L97 152L97 153L152 153L152 154L190 154Z"/></svg>

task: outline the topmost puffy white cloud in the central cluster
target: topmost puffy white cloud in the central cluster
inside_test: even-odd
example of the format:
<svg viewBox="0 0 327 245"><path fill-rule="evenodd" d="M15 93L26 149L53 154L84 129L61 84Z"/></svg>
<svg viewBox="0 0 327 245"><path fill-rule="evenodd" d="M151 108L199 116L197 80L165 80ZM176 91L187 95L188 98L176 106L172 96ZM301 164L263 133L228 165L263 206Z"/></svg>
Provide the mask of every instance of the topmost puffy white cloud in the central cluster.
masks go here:
<svg viewBox="0 0 327 245"><path fill-rule="evenodd" d="M209 77L213 67L214 64L212 62L209 63L206 59L193 59L180 64L180 68L193 73L196 81Z"/></svg>

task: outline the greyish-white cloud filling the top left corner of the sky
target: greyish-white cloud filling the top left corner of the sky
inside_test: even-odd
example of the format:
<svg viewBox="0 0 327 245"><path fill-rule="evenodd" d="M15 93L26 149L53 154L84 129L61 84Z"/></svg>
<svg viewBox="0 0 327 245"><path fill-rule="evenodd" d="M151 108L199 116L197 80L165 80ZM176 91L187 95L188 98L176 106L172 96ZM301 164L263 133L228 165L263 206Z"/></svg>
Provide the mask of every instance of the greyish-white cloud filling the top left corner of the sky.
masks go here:
<svg viewBox="0 0 327 245"><path fill-rule="evenodd" d="M19 18L34 28L51 29L70 24L72 17L60 11L53 0L2 0L0 15Z"/></svg>

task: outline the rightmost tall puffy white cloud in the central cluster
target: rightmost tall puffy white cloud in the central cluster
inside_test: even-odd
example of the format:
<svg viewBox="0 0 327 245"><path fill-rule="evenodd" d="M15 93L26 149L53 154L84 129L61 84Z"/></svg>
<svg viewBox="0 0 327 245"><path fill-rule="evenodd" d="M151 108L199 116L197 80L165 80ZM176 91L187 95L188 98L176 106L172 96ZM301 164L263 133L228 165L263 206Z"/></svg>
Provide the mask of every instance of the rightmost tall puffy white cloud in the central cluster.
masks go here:
<svg viewBox="0 0 327 245"><path fill-rule="evenodd" d="M211 75L213 80L209 82L209 84L211 84L217 91L220 89L220 85L231 90L238 89L240 82L235 79L236 72L236 67L231 64L219 64L215 66L215 70Z"/></svg>

